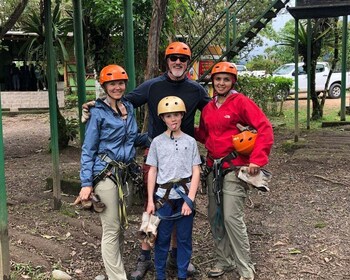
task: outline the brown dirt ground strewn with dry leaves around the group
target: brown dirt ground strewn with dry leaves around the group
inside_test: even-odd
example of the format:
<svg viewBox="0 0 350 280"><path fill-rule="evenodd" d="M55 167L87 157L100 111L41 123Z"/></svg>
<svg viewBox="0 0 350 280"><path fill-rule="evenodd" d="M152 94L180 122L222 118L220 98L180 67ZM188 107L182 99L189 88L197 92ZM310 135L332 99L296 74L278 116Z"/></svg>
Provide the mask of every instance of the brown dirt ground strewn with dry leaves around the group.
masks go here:
<svg viewBox="0 0 350 280"><path fill-rule="evenodd" d="M52 173L49 115L3 116L2 122L10 256L12 271L19 271L13 279L50 279L55 268L73 279L104 274L98 215L70 206L74 195L67 194L62 195L62 209L52 209L53 194L46 186ZM293 133L275 128L267 166L273 173L271 192L253 190L246 207L256 279L350 279L350 127L301 131L294 149L285 144ZM79 160L80 149L72 143L60 152L60 172L78 174ZM199 273L194 279L207 279L215 263L206 204L206 196L198 194L192 262ZM139 254L135 233L141 213L141 206L129 209L123 254L128 273ZM31 276L34 270L42 271L40 278ZM153 278L149 272L146 279ZM219 279L239 276L231 272Z"/></svg>

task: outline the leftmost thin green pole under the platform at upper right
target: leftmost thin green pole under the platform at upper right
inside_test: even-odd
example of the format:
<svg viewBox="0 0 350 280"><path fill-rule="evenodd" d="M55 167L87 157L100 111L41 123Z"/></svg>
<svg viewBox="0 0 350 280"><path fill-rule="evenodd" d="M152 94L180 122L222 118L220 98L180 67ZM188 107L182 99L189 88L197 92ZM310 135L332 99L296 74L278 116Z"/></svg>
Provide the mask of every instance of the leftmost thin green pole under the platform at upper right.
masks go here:
<svg viewBox="0 0 350 280"><path fill-rule="evenodd" d="M294 142L299 141L299 21L295 19L294 61L295 61L295 98L294 98Z"/></svg>

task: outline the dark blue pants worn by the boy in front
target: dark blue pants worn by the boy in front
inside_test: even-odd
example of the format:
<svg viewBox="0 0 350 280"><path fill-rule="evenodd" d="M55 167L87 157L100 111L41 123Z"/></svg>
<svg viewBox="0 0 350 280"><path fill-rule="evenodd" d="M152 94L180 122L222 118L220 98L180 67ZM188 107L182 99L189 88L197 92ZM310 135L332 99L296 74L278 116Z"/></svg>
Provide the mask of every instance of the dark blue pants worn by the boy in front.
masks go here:
<svg viewBox="0 0 350 280"><path fill-rule="evenodd" d="M158 209L161 216L171 216L181 212L184 200L170 199L172 204L166 202ZM154 248L154 265L157 272L157 279L166 279L166 260L168 257L171 233L176 225L177 241L177 275L179 278L187 277L187 268L192 255L192 227L193 213L189 216L182 216L177 220L161 220L158 225L158 234Z"/></svg>

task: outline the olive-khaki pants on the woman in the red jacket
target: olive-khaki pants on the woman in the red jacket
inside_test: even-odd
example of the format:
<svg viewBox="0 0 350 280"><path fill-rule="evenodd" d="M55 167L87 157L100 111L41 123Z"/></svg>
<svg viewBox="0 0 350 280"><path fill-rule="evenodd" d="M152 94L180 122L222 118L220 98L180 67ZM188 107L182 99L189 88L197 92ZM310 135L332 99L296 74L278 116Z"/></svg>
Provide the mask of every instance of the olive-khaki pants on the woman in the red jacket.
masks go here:
<svg viewBox="0 0 350 280"><path fill-rule="evenodd" d="M211 187L212 173L208 182ZM228 173L223 180L220 210L212 189L208 190L208 218L214 237L216 266L223 269L236 267L241 276L251 278L255 270L250 259L250 245L244 222L246 197L246 183L240 181L235 172Z"/></svg>

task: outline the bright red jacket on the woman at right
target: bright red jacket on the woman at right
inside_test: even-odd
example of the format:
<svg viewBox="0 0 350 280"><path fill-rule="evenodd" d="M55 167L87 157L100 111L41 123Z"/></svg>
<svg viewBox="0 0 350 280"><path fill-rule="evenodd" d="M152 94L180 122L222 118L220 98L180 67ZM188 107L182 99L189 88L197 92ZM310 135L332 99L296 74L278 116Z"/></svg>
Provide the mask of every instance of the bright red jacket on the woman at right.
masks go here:
<svg viewBox="0 0 350 280"><path fill-rule="evenodd" d="M232 135L240 133L237 123L255 128L258 135L250 156L239 155L232 160L232 164L266 165L273 144L273 130L263 111L250 98L237 92L228 95L220 108L215 102L214 98L204 107L200 125L195 131L195 138L208 150L208 165L212 166L212 159L222 158L234 150ZM223 167L227 168L228 165Z"/></svg>

